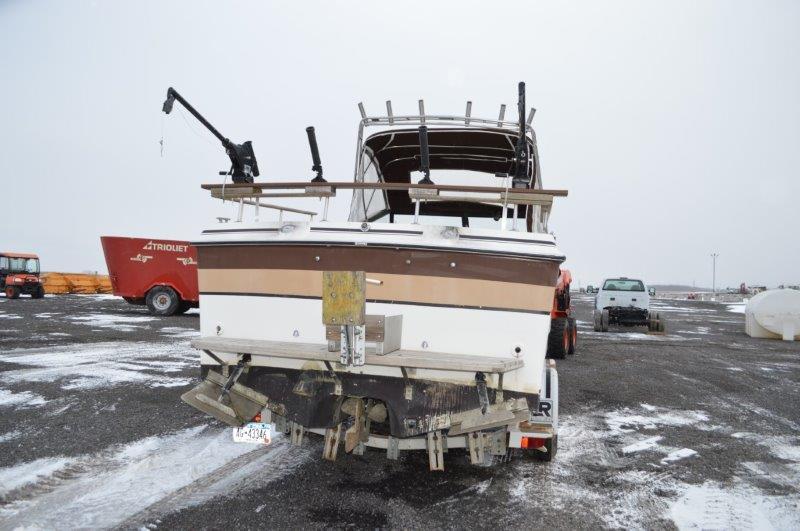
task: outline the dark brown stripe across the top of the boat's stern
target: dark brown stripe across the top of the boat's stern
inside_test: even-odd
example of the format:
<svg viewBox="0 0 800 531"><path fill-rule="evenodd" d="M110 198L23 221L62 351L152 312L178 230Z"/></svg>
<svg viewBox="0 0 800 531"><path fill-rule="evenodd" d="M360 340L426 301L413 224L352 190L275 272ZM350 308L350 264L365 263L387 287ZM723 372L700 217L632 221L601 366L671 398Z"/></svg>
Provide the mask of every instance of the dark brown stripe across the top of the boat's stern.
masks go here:
<svg viewBox="0 0 800 531"><path fill-rule="evenodd" d="M555 287L558 262L405 248L225 245L197 248L204 269L370 271Z"/></svg>

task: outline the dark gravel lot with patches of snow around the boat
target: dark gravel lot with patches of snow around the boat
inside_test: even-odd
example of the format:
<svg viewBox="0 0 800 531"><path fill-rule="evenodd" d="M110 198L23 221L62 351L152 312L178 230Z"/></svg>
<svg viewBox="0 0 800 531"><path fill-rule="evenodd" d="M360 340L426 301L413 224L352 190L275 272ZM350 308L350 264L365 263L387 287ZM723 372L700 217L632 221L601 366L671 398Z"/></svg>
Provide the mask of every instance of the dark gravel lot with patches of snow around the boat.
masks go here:
<svg viewBox="0 0 800 531"><path fill-rule="evenodd" d="M724 304L659 300L668 334L591 331L558 364L550 464L444 473L424 454L322 461L322 441L237 445L179 397L197 314L110 296L0 298L0 529L800 526L800 344Z"/></svg>

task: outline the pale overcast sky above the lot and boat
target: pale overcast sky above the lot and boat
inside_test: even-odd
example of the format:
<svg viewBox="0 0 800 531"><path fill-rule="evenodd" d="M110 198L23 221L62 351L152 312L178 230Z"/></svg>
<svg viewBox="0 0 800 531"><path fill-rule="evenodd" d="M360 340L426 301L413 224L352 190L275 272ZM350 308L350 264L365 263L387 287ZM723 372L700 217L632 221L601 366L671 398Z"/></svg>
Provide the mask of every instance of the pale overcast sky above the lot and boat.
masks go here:
<svg viewBox="0 0 800 531"><path fill-rule="evenodd" d="M711 252L718 285L800 283L794 0L0 0L0 69L0 247L45 270L105 270L101 235L192 239L230 212L200 190L227 158L160 112L169 86L253 140L260 180L293 181L308 125L326 177L352 179L359 101L514 116L523 80L582 285L709 286Z"/></svg>

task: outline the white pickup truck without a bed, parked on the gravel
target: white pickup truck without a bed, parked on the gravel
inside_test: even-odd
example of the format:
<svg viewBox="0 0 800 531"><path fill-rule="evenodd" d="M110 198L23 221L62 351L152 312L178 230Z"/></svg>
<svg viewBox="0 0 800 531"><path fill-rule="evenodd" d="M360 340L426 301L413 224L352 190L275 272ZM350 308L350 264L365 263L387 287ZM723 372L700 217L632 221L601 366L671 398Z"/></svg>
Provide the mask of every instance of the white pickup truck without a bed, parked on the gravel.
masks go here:
<svg viewBox="0 0 800 531"><path fill-rule="evenodd" d="M650 311L650 296L653 288L647 289L638 279L619 277L603 281L594 299L594 330L608 332L609 325L647 326L650 332L664 332L664 318Z"/></svg>

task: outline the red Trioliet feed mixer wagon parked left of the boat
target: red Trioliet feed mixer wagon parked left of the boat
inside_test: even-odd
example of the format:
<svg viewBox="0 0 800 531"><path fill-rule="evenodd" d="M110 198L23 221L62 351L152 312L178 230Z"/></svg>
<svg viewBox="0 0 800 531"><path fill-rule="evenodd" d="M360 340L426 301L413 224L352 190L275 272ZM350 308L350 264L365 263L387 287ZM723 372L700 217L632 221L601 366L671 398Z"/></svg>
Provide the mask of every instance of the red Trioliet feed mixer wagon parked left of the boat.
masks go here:
<svg viewBox="0 0 800 531"><path fill-rule="evenodd" d="M103 236L114 295L154 315L197 308L197 250L189 242Z"/></svg>

